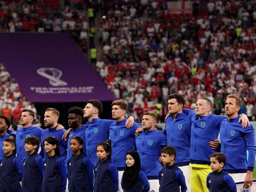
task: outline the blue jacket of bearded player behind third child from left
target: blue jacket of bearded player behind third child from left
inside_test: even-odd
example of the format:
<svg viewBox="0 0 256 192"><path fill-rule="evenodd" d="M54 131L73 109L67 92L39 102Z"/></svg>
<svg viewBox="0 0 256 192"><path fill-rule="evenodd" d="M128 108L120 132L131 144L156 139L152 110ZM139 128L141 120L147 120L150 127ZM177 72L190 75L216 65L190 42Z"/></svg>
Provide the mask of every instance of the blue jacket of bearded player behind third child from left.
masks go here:
<svg viewBox="0 0 256 192"><path fill-rule="evenodd" d="M47 137L55 137L59 141L59 147L60 147L60 156L62 158L66 159L67 156L67 148L68 148L68 141L65 141L62 139L63 134L66 132L65 129L61 130L56 130L57 126L54 128L47 128L43 130L42 135L41 135L41 152L40 155L42 158L45 158L48 156L48 154L44 150L44 140Z"/></svg>

